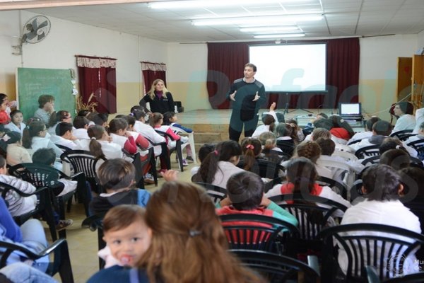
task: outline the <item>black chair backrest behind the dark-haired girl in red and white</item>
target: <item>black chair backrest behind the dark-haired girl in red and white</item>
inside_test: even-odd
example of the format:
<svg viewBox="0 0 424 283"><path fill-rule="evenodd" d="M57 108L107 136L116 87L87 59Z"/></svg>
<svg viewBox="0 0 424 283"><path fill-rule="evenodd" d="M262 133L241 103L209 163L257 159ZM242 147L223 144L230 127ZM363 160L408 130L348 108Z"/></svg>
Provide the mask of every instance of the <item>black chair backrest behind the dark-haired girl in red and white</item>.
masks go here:
<svg viewBox="0 0 424 283"><path fill-rule="evenodd" d="M328 225L331 216L338 210L345 212L347 209L343 204L314 195L276 195L269 199L298 219L299 237L305 240L317 239L317 234Z"/></svg>

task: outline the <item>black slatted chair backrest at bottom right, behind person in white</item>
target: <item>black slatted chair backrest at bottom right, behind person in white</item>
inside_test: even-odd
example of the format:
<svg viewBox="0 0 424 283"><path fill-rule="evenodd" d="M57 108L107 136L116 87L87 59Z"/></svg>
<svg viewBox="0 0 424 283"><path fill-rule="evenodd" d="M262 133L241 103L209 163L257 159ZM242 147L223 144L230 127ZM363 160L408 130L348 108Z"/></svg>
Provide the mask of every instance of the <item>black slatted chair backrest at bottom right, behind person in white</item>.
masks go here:
<svg viewBox="0 0 424 283"><path fill-rule="evenodd" d="M365 267L374 266L380 279L403 275L404 261L424 243L424 236L413 231L382 224L346 224L329 227L318 234L326 253L334 258L335 240L346 252L348 280L365 280Z"/></svg>

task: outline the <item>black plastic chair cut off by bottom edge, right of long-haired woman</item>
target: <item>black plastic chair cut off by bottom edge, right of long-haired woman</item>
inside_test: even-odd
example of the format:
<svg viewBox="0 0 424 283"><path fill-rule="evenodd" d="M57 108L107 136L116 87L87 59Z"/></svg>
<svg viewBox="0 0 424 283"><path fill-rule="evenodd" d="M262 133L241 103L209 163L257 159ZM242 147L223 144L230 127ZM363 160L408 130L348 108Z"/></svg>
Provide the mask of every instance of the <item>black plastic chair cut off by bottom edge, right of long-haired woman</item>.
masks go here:
<svg viewBox="0 0 424 283"><path fill-rule="evenodd" d="M303 282L317 282L319 279L318 259L308 257L308 264L275 253L263 250L230 250L237 255L242 265L255 270L270 283L298 282L298 277L303 277Z"/></svg>

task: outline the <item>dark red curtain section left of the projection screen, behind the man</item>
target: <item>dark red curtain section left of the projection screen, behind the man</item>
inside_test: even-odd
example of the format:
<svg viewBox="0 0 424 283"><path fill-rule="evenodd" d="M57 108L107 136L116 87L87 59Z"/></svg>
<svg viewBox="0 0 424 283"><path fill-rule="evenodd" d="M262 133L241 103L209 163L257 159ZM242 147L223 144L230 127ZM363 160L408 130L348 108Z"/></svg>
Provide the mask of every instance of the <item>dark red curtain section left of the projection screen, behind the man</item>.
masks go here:
<svg viewBox="0 0 424 283"><path fill-rule="evenodd" d="M230 102L225 95L235 79L243 77L245 64L249 62L249 47L243 43L208 43L209 103L213 109L228 109Z"/></svg>

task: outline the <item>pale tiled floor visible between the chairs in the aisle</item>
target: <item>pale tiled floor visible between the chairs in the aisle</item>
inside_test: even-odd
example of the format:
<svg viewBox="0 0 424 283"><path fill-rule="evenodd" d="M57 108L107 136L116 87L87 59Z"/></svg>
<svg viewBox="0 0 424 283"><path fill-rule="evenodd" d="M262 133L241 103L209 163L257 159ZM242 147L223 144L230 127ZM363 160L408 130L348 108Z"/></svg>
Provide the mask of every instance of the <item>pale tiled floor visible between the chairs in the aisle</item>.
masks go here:
<svg viewBox="0 0 424 283"><path fill-rule="evenodd" d="M175 155L173 154L172 157ZM178 168L177 163L172 161L172 168ZM190 169L196 166L194 163L189 163L189 166L184 167L184 172L178 173L179 180L190 182L192 176ZM163 184L163 178L158 179L158 187L155 185L146 185L146 189L150 192L158 190ZM73 219L73 225L66 229L66 240L68 241L69 253L71 254L71 265L73 278L75 282L86 282L87 279L98 271L98 240L97 231L92 232L89 229L81 227L81 223L85 218L84 209L81 204L73 204L71 212L66 215L67 218ZM45 230L49 236L48 229ZM49 243L52 243L49 239ZM59 275L54 277L60 282Z"/></svg>

